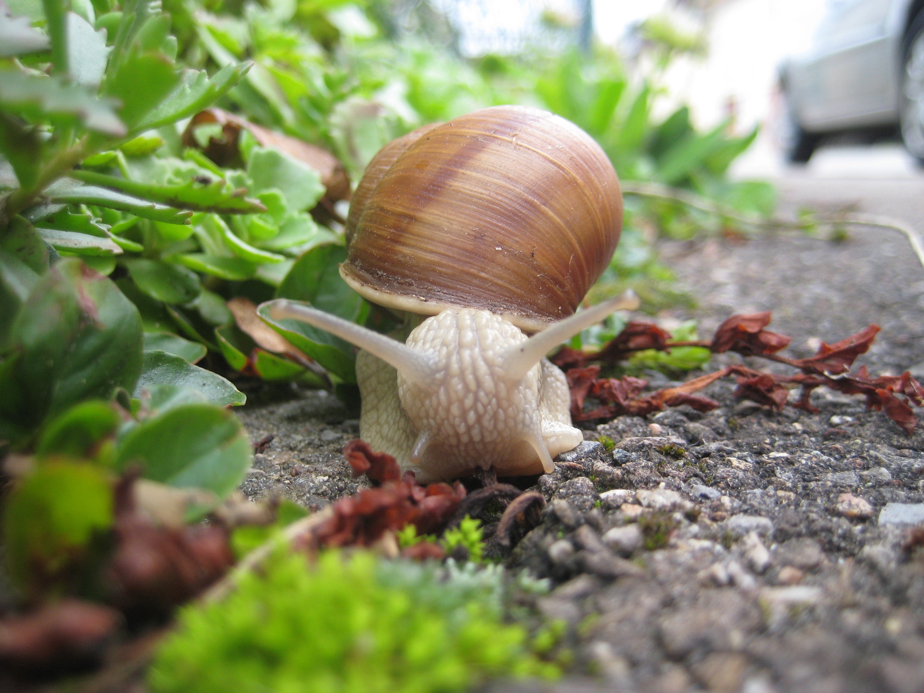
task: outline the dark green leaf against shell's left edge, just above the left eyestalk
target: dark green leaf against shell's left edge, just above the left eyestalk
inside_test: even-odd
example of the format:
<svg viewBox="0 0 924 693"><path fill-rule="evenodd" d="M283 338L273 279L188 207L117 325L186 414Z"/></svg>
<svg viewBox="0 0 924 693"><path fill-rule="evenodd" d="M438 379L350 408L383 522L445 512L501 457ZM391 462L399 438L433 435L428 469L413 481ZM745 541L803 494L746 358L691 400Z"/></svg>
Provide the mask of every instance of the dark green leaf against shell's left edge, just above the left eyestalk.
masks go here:
<svg viewBox="0 0 924 693"><path fill-rule="evenodd" d="M286 274L276 298L306 301L325 312L355 322L362 297L341 278L338 264L346 260L346 248L317 246L302 255Z"/></svg>

